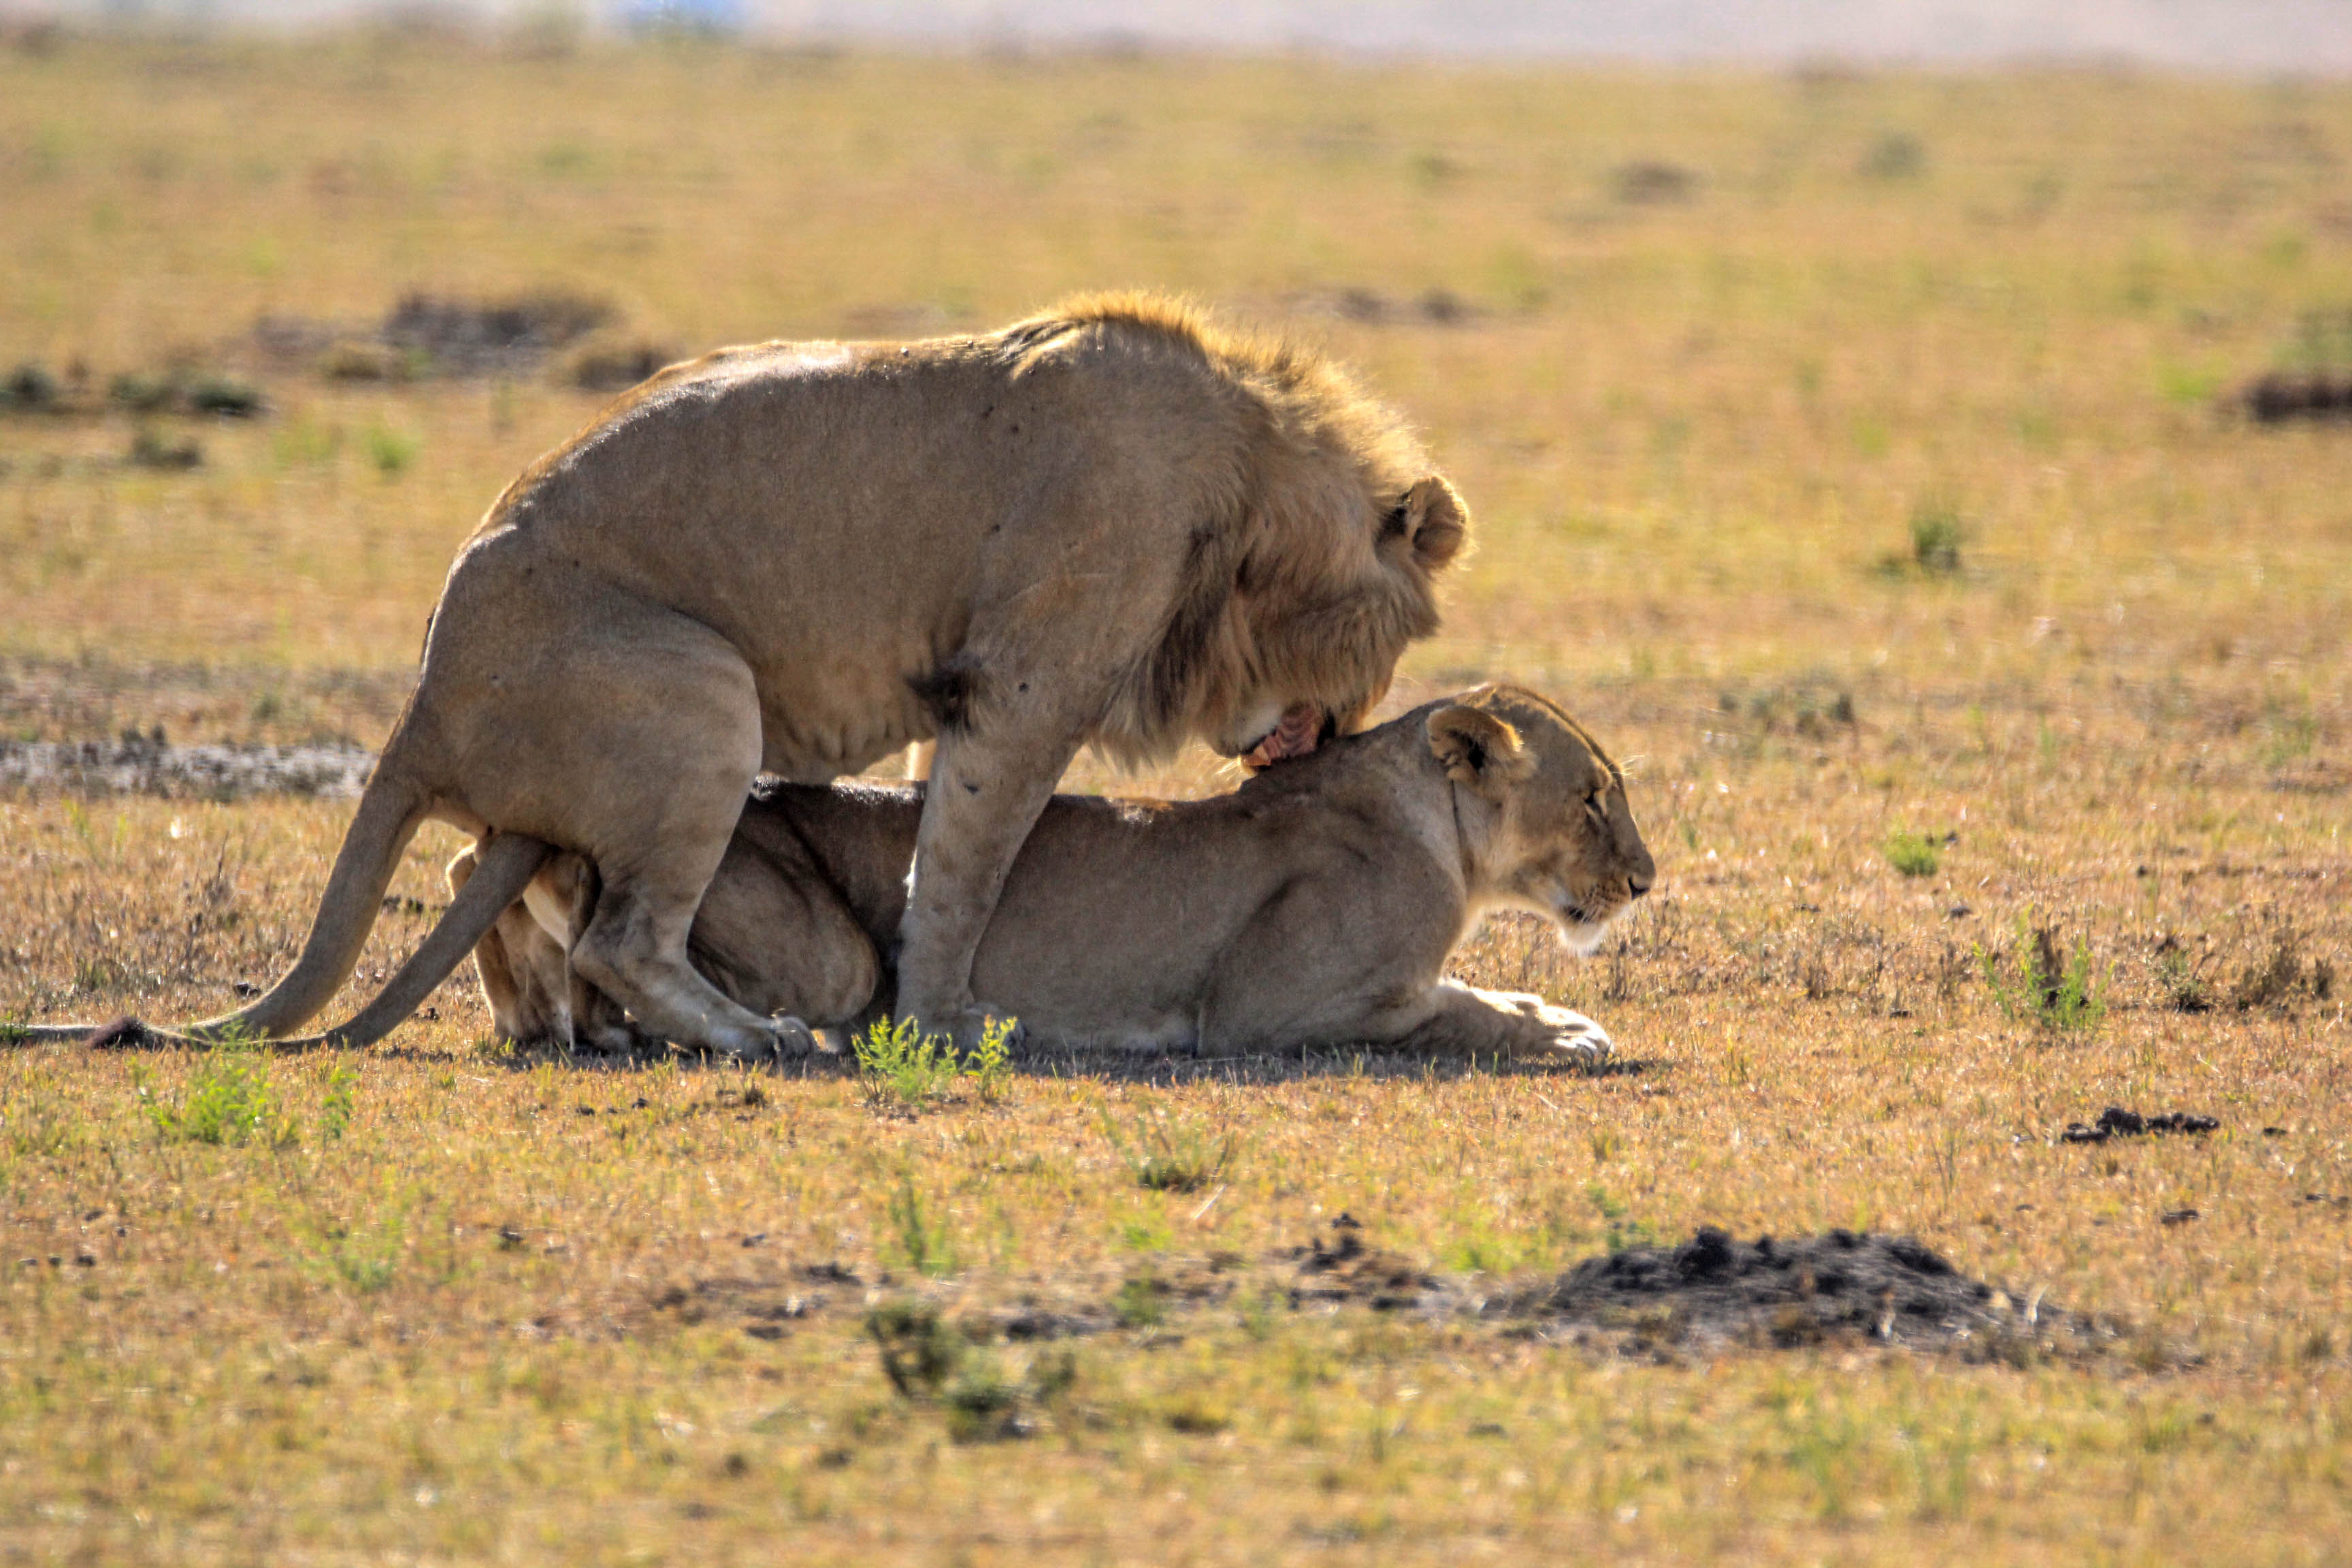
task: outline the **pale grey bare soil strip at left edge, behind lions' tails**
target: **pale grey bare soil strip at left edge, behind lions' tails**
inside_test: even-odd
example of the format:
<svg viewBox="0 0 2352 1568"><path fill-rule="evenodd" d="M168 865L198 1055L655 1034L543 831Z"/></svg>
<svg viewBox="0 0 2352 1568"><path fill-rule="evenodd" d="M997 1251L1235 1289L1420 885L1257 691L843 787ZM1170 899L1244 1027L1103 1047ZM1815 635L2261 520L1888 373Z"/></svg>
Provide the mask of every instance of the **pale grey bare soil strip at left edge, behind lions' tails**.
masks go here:
<svg viewBox="0 0 2352 1568"><path fill-rule="evenodd" d="M0 741L0 792L358 797L376 755L358 745L169 745L127 731L118 741Z"/></svg>

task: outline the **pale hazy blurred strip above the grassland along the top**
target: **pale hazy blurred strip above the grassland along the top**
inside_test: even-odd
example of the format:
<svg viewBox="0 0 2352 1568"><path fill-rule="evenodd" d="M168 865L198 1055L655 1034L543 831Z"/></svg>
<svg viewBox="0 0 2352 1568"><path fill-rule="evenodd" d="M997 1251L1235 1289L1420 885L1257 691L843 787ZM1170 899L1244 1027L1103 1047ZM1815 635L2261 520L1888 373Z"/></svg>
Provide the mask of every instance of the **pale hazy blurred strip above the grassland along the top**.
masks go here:
<svg viewBox="0 0 2352 1568"><path fill-rule="evenodd" d="M0 21L689 28L776 42L2352 73L2343 0L0 0Z"/></svg>

